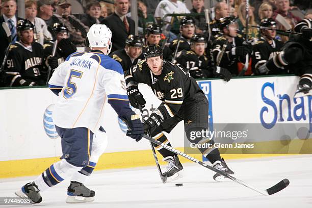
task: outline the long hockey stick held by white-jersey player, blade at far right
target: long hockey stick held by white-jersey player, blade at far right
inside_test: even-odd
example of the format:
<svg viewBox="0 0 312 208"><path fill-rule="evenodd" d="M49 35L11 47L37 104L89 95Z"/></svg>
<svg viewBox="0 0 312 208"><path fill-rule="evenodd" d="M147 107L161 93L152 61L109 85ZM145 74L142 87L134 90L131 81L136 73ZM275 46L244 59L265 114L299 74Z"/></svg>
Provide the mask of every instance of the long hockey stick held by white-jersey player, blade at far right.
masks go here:
<svg viewBox="0 0 312 208"><path fill-rule="evenodd" d="M124 120L123 118L121 118L121 119L128 126L127 121ZM128 129L130 129L129 126L128 126ZM199 165L201 165L201 166L203 166L203 167L205 167L207 169L210 169L210 170L212 170L212 171L214 171L216 173L219 173L220 175L223 175L224 177L227 177L227 178L231 179L232 181L234 181L234 182L236 182L236 183L238 183L238 184L240 184L240 185L242 185L244 187L252 189L253 191L256 191L256 192L258 192L258 193L260 193L262 195L265 195L265 196L269 196L269 195L275 194L275 193L283 190L284 188L288 187L288 185L290 183L289 179L284 178L281 181L279 181L277 184L275 184L274 186L272 186L272 187L270 187L268 189L265 189L265 190L257 189L255 187L250 186L249 184L246 184L243 180L240 180L240 179L238 179L236 177L228 175L228 174L218 170L217 168L214 168L214 167L212 167L212 166L210 166L208 164L205 164L205 163L197 160L196 158L193 158L190 155L188 155L188 154L186 154L186 153L184 153L184 152L182 152L180 150L177 150L177 149L175 149L175 148L173 148L173 147L171 147L171 146L169 146L167 144L164 144L164 143L162 143L162 142L160 142L158 140L155 140L155 139L153 139L153 138L151 138L151 137L149 137L147 135L143 135L143 137L145 139L147 139L148 141L154 143L154 144L160 145L163 148L165 148L165 149L167 149L167 150L169 150L169 151L171 151L171 152L173 152L175 154L180 155L181 157L184 157L184 158L186 158L186 159L188 159L188 160L190 160L190 161L192 161L194 163L197 163L197 164L199 164Z"/></svg>

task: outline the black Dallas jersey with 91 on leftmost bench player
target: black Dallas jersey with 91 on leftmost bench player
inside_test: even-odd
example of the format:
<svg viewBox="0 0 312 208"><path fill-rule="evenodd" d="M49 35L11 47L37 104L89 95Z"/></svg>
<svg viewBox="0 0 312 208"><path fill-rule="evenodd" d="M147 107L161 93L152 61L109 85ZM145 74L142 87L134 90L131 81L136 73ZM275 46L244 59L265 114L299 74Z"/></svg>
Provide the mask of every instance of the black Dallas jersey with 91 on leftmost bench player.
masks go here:
<svg viewBox="0 0 312 208"><path fill-rule="evenodd" d="M30 47L20 42L15 42L9 49L6 64L6 85L22 86L26 82L35 82L37 85L45 85L43 69L43 47L33 42Z"/></svg>

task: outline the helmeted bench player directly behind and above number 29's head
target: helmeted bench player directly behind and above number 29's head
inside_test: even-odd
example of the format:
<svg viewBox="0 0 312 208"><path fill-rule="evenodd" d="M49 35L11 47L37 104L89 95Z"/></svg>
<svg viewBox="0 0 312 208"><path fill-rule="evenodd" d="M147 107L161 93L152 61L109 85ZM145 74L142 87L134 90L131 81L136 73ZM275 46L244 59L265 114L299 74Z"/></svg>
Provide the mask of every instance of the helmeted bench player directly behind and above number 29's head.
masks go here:
<svg viewBox="0 0 312 208"><path fill-rule="evenodd" d="M146 30L145 46L152 45L152 44L160 45L161 35L162 35L161 27L157 24L150 24L150 25L148 25L148 27L145 30ZM143 50L144 50L145 46L143 46ZM169 47L167 45L164 45L162 48L163 48L163 52L164 52L163 53L164 59L171 60L172 59L172 52L169 49ZM143 53L140 55L139 59L141 59L141 60L144 59Z"/></svg>

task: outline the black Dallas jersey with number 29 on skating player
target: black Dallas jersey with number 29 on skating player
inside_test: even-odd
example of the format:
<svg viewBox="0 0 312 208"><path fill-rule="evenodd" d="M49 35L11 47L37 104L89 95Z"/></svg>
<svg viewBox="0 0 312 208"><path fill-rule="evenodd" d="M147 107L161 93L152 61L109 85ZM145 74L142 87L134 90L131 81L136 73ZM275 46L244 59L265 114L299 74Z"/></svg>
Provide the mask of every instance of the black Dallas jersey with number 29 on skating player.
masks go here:
<svg viewBox="0 0 312 208"><path fill-rule="evenodd" d="M196 81L185 73L183 69L169 61L163 61L163 69L160 75L154 75L145 60L131 67L125 76L126 84L147 84L163 104L158 108L164 115L164 119L171 118L183 110L186 100L192 100L193 96L200 92ZM201 91L202 92L202 91Z"/></svg>

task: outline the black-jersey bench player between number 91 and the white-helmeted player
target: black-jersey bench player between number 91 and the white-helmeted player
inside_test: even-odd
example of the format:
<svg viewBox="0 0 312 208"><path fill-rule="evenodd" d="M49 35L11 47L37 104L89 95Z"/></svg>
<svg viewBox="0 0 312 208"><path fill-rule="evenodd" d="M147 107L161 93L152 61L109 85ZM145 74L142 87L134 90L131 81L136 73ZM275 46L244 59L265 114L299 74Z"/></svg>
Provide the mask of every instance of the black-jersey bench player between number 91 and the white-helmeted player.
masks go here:
<svg viewBox="0 0 312 208"><path fill-rule="evenodd" d="M55 56L52 56L55 41L49 41L44 44L43 49L46 65L49 65L51 69L56 69L69 55L76 52L77 48L70 42L68 29L65 24L54 23L53 32L58 41Z"/></svg>

